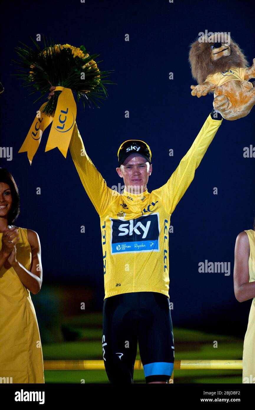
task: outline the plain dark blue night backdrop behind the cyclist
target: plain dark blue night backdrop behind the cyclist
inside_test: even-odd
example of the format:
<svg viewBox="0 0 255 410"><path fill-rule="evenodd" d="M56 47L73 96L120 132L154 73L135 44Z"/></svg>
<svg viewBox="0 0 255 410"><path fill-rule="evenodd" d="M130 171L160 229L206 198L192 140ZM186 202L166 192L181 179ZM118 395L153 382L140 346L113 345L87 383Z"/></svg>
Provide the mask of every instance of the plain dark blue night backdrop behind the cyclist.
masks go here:
<svg viewBox="0 0 255 410"><path fill-rule="evenodd" d="M43 1L2 5L0 95L1 146L13 147L13 160L0 159L20 190L16 225L35 230L41 240L43 282L91 285L98 309L104 297L100 221L77 175L70 152L44 152L49 128L30 166L18 154L44 100L28 96L12 77L19 41L30 35L81 44L98 53L109 78L109 98L100 107L77 107L77 125L87 153L107 185L123 181L116 173L119 145L145 140L152 150L148 191L162 186L178 166L212 110L213 96L191 96L189 44L200 31L230 32L250 63L255 57L255 25L246 1ZM29 5L29 7L28 7ZM124 40L129 34L130 41ZM43 45L42 45L43 46ZM173 72L173 80L168 73ZM130 118L125 118L126 110ZM170 300L174 326L203 327L240 333L251 301L238 303L233 291L237 234L253 228L254 159L243 148L254 144L255 108L246 118L226 121L217 132L194 181L176 207L169 235ZM173 148L174 156L169 157ZM41 195L36 195L36 188ZM218 195L213 195L213 188ZM86 233L80 233L85 225ZM198 273L198 263L230 262L231 274Z"/></svg>

